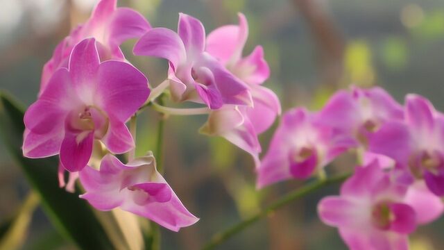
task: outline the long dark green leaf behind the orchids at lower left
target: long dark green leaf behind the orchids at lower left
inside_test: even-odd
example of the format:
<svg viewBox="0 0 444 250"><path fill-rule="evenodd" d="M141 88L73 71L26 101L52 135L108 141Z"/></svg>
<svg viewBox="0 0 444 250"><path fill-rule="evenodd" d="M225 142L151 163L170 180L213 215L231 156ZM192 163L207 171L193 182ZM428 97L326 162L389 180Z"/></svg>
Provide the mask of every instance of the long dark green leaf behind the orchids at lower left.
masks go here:
<svg viewBox="0 0 444 250"><path fill-rule="evenodd" d="M87 201L58 187L58 159L29 159L22 155L24 108L0 92L0 137L22 167L51 222L80 249L115 249Z"/></svg>

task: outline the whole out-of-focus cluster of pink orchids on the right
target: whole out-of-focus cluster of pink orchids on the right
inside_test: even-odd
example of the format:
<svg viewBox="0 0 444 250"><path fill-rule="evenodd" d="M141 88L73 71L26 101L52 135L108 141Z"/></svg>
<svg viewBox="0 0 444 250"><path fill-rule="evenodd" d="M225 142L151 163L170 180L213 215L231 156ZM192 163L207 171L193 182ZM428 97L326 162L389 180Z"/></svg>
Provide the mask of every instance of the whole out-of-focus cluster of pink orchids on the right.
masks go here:
<svg viewBox="0 0 444 250"><path fill-rule="evenodd" d="M360 166L339 196L318 204L322 221L338 227L350 249L408 249L409 233L444 210L443 118L415 94L403 107L382 88L340 90L316 113L282 115L257 185L309 178L355 150Z"/></svg>

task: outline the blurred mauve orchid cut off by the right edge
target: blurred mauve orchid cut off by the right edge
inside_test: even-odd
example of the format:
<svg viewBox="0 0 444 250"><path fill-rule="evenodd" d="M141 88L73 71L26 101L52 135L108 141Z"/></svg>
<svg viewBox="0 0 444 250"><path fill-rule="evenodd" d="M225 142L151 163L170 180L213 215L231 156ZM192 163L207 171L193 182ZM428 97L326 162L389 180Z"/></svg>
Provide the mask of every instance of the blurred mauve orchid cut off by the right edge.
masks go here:
<svg viewBox="0 0 444 250"><path fill-rule="evenodd" d="M429 190L444 195L444 116L415 94L406 97L405 120L389 122L370 139L369 151L391 157L399 167L424 179Z"/></svg>

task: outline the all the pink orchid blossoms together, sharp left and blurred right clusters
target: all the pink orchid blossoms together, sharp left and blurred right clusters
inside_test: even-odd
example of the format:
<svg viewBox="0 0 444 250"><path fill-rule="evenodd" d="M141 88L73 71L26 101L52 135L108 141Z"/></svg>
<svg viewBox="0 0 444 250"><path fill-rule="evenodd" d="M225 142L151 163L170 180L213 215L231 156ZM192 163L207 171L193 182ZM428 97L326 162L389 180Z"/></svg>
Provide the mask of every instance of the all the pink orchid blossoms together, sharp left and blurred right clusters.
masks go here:
<svg viewBox="0 0 444 250"><path fill-rule="evenodd" d="M322 110L284 113L260 159L258 135L281 107L262 86L270 75L262 47L244 56L247 38L242 14L239 24L206 35L189 15L179 15L176 32L151 27L135 10L117 8L117 0L99 1L44 65L38 99L24 117L24 156L58 155L60 187L72 191L78 180L80 197L98 210L121 208L178 231L198 218L157 171L153 153L134 158L126 123L144 108L207 115L200 133L249 153L257 188L311 178L342 153L358 152L360 166L340 196L319 203L321 219L339 228L350 249L407 249L409 233L444 210L444 115L413 94L401 106L382 88L339 90ZM155 88L123 54L129 39L137 40L135 56L168 61L167 78ZM165 107L158 101L164 96L200 107Z"/></svg>

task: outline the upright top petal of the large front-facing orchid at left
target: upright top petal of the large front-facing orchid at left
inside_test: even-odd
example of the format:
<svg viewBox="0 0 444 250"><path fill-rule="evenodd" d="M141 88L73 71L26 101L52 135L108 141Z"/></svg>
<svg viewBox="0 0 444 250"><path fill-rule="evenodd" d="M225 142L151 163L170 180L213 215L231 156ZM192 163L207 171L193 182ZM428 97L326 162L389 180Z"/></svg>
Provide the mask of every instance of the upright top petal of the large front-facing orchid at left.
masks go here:
<svg viewBox="0 0 444 250"><path fill-rule="evenodd" d="M94 82L100 59L96 48L96 40L88 38L79 42L72 50L69 58L69 74L77 88Z"/></svg>

